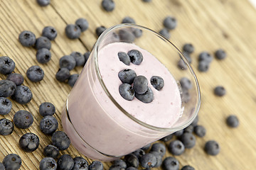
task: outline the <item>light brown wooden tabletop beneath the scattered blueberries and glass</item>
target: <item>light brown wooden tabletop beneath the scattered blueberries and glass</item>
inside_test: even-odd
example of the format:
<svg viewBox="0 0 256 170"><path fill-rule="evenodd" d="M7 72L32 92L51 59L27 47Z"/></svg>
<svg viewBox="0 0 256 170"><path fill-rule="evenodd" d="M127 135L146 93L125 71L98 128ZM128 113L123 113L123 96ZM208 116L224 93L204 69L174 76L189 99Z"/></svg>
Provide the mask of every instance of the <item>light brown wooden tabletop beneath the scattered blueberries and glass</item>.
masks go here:
<svg viewBox="0 0 256 170"><path fill-rule="evenodd" d="M55 79L58 60L73 51L87 52L97 40L95 29L98 26L110 27L121 23L122 18L131 16L137 24L159 31L166 16L174 16L178 21L171 38L179 48L191 42L196 50L191 55L201 86L201 109L198 124L203 125L206 136L196 137L196 146L186 149L176 157L180 168L189 164L195 169L254 169L256 160L256 10L249 1L210 0L178 1L141 0L115 1L112 12L102 10L101 0L52 0L49 6L38 6L36 0L0 0L0 56L7 55L16 62L14 72L23 75L24 85L29 86L33 99L26 105L13 101L11 113L0 118L13 120L19 110L30 111L34 123L28 129L14 128L11 135L0 136L0 162L7 154L18 154L22 159L21 169L38 169L43 158L43 148L50 144L50 136L43 135L39 129L41 115L38 106L48 101L55 105L55 118L60 123L60 113L65 105L71 87ZM78 18L86 18L90 27L78 40L69 40L64 33L68 23L75 23ZM22 30L31 30L36 37L41 35L45 26L53 26L58 37L52 42L52 59L47 64L36 61L36 50L23 47L18 42ZM223 48L228 57L225 60L213 60L208 72L198 72L198 54ZM26 77L26 70L32 65L39 65L45 72L41 82L33 83ZM72 70L80 73L82 67ZM1 75L1 79L6 76ZM223 85L227 94L217 97L213 94L215 86ZM237 115L238 128L228 128L225 118ZM63 130L59 125L58 130ZM40 145L32 153L23 152L18 147L18 140L26 132L34 132L40 138ZM208 156L203 146L208 140L220 144L220 154ZM61 152L72 157L81 156L72 145ZM165 157L171 156L166 152ZM84 156L82 156L84 157ZM87 159L87 158L86 158ZM87 159L92 162L92 159ZM110 163L104 163L105 169ZM159 168L160 169L160 168Z"/></svg>

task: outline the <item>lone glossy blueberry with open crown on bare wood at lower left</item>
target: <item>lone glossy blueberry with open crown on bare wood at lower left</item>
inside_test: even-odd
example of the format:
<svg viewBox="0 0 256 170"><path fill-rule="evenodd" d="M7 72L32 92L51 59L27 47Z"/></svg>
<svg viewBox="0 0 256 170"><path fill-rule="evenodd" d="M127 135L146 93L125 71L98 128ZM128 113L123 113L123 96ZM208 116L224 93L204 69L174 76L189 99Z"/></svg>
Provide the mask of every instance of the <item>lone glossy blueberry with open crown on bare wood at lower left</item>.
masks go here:
<svg viewBox="0 0 256 170"><path fill-rule="evenodd" d="M25 133L18 140L18 145L25 152L33 152L38 149L39 137L32 132Z"/></svg>

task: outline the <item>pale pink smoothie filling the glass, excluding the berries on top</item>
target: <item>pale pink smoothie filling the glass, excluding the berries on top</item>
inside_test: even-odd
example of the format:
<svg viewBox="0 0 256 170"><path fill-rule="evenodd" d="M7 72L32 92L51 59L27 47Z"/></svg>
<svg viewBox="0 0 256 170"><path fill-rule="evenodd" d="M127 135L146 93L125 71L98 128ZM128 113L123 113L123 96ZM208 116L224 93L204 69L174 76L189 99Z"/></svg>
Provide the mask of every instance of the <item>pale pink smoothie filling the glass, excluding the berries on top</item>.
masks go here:
<svg viewBox="0 0 256 170"><path fill-rule="evenodd" d="M133 49L142 52L142 64L131 63L127 66L119 61L118 52ZM129 115L148 125L171 128L182 111L181 95L168 69L149 52L132 43L114 42L100 48L98 55L95 51L91 55L68 97L70 120L63 112L63 128L73 145L92 159L110 161L113 159L111 156L121 157L169 135L170 131L147 128L122 112L124 109ZM102 88L95 72L95 55L98 57L102 81L114 101L122 107L121 110ZM143 75L148 80L152 76L162 77L164 88L157 91L149 81L154 93L151 103L143 103L137 98L127 101L120 96L118 90L122 84L118 72L122 69L133 69L137 76Z"/></svg>

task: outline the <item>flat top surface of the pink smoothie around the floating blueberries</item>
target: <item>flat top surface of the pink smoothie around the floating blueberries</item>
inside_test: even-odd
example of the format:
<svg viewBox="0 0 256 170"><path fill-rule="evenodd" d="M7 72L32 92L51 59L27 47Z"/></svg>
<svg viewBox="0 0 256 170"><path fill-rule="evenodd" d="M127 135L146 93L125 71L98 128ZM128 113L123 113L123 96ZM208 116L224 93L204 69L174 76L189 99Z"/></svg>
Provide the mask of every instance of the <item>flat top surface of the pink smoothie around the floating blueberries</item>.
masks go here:
<svg viewBox="0 0 256 170"><path fill-rule="evenodd" d="M139 50L142 52L143 61L141 64L128 66L119 61L118 52ZM161 128L171 128L181 116L181 95L176 80L159 60L146 50L127 42L114 42L102 47L98 53L98 65L102 80L108 91L117 103L127 113L138 120L149 125ZM122 69L133 69L137 76L143 75L149 81L149 87L154 93L154 100L151 103L143 103L134 97L127 101L119 94L119 85L122 84L118 72ZM154 89L150 83L152 76L159 76L164 79L164 87L160 91Z"/></svg>

